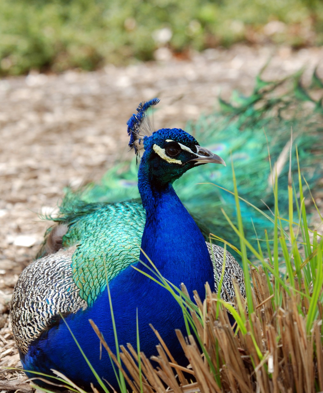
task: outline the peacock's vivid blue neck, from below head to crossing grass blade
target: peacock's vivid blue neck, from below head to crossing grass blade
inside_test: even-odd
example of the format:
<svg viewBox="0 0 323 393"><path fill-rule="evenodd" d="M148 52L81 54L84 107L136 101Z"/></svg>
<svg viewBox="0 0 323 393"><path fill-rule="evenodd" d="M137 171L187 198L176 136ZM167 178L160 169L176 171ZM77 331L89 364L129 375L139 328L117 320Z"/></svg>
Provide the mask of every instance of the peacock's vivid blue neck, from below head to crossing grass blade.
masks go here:
<svg viewBox="0 0 323 393"><path fill-rule="evenodd" d="M146 210L142 250L174 285L184 282L193 291L208 281L213 288L213 266L204 237L173 186L156 184L149 178L147 165L141 165L138 188ZM142 252L140 260L150 266Z"/></svg>

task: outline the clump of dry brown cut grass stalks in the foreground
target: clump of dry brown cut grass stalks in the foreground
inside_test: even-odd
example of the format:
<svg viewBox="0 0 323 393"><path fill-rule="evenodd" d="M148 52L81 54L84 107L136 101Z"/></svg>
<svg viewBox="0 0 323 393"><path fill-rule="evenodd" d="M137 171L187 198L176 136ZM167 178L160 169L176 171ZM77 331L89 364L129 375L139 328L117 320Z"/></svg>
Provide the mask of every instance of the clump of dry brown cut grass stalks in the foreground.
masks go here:
<svg viewBox="0 0 323 393"><path fill-rule="evenodd" d="M207 357L201 354L193 336L184 338L177 331L189 368L176 364L162 338L156 332L160 345L158 356L152 367L145 354L140 353L142 391L176 393L312 393L323 391L323 347L321 335L322 305L319 319L314 321L309 335L306 334L306 318L300 315L301 304L304 315L309 302L296 291L288 295L281 288L282 306L274 311L266 276L260 269L252 269L253 303L255 312L247 318L244 311L246 331L232 329L223 305L217 307L217 295L207 287L204 303L195 295L202 321L193 313L198 337L204 343ZM302 285L295 283L303 292ZM303 299L303 300L301 300ZM241 299L244 301L244 299ZM237 305L236 305L237 307ZM217 318L218 312L218 318ZM101 342L116 361L99 331L92 322ZM132 391L141 392L138 354L131 345L121 347L121 360L132 380L122 369ZM213 367L213 370L212 370Z"/></svg>

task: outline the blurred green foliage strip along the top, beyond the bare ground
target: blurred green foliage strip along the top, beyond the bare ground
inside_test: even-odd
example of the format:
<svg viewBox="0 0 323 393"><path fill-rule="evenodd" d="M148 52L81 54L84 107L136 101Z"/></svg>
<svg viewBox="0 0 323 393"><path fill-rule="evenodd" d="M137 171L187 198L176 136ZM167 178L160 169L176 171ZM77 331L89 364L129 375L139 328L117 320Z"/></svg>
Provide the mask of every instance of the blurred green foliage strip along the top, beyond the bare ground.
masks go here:
<svg viewBox="0 0 323 393"><path fill-rule="evenodd" d="M1 0L0 73L94 70L235 42L323 42L321 0Z"/></svg>

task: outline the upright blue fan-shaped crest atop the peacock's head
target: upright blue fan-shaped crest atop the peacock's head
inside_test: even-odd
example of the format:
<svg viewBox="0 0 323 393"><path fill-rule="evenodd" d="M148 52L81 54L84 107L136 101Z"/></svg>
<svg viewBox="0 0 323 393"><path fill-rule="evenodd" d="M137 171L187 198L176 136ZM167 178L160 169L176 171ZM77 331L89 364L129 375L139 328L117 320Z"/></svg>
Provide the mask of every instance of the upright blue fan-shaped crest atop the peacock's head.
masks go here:
<svg viewBox="0 0 323 393"><path fill-rule="evenodd" d="M151 127L147 110L159 103L160 99L153 98L147 102L143 101L138 105L137 113L133 114L127 121L128 135L130 136L129 146L130 149L134 148L136 154L143 148L141 140L144 136L150 136L154 132Z"/></svg>

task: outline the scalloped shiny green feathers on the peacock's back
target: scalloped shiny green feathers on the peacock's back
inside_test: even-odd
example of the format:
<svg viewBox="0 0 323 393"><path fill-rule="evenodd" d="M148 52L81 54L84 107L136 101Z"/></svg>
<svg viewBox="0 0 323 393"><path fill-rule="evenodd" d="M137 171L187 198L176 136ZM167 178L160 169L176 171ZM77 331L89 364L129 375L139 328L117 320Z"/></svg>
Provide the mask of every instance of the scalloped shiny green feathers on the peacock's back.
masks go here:
<svg viewBox="0 0 323 393"><path fill-rule="evenodd" d="M106 280L139 260L140 244L134 239L141 239L144 224L141 204L120 202L94 209L70 226L63 245L77 246L72 256L73 281L88 306L105 288Z"/></svg>

